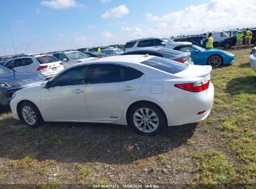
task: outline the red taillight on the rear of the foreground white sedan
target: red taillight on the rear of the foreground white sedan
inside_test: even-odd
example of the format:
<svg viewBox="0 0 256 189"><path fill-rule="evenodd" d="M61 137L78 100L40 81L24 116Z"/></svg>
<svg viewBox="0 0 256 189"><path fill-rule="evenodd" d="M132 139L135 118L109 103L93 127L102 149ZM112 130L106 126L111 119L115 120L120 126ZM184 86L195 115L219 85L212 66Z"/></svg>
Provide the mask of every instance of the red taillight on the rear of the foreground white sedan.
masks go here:
<svg viewBox="0 0 256 189"><path fill-rule="evenodd" d="M197 81L196 83L182 83L182 84L176 84L174 86L190 92L201 92L204 90L207 90L209 88L210 81Z"/></svg>

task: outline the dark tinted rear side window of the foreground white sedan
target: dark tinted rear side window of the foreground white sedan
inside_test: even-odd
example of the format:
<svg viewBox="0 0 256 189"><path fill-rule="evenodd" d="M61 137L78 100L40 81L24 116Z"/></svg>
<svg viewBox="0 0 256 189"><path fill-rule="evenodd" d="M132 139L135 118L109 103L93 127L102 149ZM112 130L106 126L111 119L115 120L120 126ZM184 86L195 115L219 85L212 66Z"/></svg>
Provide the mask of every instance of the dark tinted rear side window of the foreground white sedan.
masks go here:
<svg viewBox="0 0 256 189"><path fill-rule="evenodd" d="M92 84L95 83L114 83L135 80L140 78L143 73L133 68L115 64L97 64L93 66Z"/></svg>

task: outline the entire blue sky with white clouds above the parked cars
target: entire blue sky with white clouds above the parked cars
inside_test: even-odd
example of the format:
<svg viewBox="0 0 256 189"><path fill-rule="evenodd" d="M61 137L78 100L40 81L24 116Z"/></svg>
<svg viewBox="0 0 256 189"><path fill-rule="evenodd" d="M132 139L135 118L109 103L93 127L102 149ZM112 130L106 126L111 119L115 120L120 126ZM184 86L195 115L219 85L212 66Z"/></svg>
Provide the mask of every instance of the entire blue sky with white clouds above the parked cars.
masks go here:
<svg viewBox="0 0 256 189"><path fill-rule="evenodd" d="M256 0L0 0L0 55L256 27ZM12 40L13 39L13 40Z"/></svg>

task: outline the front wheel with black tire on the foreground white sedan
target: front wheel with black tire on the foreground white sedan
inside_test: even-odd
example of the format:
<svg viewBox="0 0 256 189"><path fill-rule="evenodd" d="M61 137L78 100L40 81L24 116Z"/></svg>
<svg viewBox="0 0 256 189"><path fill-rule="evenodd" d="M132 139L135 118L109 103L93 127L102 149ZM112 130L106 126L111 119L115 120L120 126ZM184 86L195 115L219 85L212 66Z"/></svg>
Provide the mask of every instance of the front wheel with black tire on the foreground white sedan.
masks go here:
<svg viewBox="0 0 256 189"><path fill-rule="evenodd" d="M29 111L30 110L29 108L32 109L32 111ZM25 110L27 110L27 112ZM26 116L24 116L23 113L24 114L27 113L30 116L28 116L26 119L25 118ZM39 109L34 104L29 103L29 102L25 102L25 103L21 104L21 108L19 108L19 115L20 115L22 121L30 127L39 126L40 124L42 124L44 122ZM33 118L36 118L35 121Z"/></svg>

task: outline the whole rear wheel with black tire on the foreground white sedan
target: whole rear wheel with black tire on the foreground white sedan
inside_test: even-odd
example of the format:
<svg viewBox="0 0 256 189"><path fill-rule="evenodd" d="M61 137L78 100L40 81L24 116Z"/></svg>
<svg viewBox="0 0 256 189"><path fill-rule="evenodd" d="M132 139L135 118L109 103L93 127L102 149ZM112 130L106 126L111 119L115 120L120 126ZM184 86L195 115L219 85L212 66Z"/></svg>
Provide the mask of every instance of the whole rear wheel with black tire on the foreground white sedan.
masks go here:
<svg viewBox="0 0 256 189"><path fill-rule="evenodd" d="M140 109L144 109L144 114L145 114L145 118L141 118L139 116L136 116L135 113L138 113L138 111L140 111ZM149 109L148 114L150 116L150 114L152 116L146 116L146 109ZM141 111L140 111L141 112ZM156 114L156 116L154 116L154 114ZM143 114L143 113L142 113ZM157 118L156 118L157 117ZM161 132L163 130L163 128L166 126L166 118L165 115L163 113L163 111L161 109L158 108L158 106L155 106L154 104L150 104L150 103L140 103L140 104L136 104L135 106L133 106L130 109L130 113L128 113L128 124L133 127L133 129L138 132L139 134L143 134L146 136L155 136L156 134L159 134L159 132ZM137 121L137 123L135 123L136 120L141 119L140 121ZM145 121L145 119L148 119L147 121ZM158 121L154 121L158 119ZM138 122L139 124L141 124L141 126L138 126ZM146 122L146 123L145 123ZM137 124L137 126L135 125ZM153 129L154 125L158 125L156 128ZM145 127L145 129L143 129ZM139 129L140 128L140 129ZM144 130L144 131L143 131Z"/></svg>

